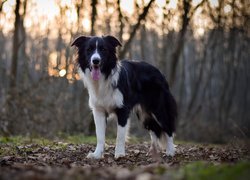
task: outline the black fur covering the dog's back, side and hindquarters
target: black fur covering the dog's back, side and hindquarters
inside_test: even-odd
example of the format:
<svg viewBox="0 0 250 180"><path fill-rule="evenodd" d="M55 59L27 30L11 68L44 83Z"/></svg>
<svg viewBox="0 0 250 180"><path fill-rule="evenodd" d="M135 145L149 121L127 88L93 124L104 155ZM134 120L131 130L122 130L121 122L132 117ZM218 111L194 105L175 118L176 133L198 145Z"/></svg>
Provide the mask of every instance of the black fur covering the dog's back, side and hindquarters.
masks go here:
<svg viewBox="0 0 250 180"><path fill-rule="evenodd" d="M162 132L172 136L177 105L165 77L145 62L123 60L120 63L122 68L117 87L124 96L123 116L127 117L127 112L140 105L148 116L143 120L146 129L154 131L158 137Z"/></svg>

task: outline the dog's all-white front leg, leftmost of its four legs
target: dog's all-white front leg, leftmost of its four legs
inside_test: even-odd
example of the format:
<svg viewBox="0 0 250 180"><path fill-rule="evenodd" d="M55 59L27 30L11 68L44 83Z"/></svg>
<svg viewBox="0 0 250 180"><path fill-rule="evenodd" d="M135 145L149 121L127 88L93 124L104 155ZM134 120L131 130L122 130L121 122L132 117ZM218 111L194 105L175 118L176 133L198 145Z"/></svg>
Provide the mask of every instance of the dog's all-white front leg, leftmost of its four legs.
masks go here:
<svg viewBox="0 0 250 180"><path fill-rule="evenodd" d="M97 145L95 152L90 152L87 158L100 159L103 157L104 146L105 146L105 131L106 131L106 120L105 113L99 109L93 109Z"/></svg>

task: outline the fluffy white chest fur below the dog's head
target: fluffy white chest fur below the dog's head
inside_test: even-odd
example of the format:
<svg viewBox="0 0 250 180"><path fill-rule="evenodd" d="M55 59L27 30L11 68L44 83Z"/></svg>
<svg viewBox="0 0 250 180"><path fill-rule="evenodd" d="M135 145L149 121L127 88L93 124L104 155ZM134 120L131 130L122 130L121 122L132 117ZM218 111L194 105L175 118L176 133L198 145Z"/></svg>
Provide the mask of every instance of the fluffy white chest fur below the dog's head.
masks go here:
<svg viewBox="0 0 250 180"><path fill-rule="evenodd" d="M114 108L123 106L122 93L118 88L113 87L117 84L119 70L111 73L107 79L102 75L98 81L92 79L89 69L86 69L85 73L80 70L80 76L88 89L90 108L98 108L111 113Z"/></svg>

